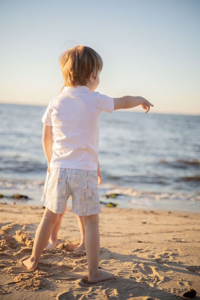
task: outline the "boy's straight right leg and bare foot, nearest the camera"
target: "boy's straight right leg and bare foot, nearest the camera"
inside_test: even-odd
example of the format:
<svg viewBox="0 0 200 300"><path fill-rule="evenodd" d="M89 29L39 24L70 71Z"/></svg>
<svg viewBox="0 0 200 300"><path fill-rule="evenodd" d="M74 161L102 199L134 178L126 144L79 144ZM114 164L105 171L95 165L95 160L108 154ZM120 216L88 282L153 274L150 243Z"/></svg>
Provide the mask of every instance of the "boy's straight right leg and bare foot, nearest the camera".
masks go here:
<svg viewBox="0 0 200 300"><path fill-rule="evenodd" d="M115 278L111 273L99 270L99 216L98 214L84 216L85 226L85 249L88 259L88 282L97 283Z"/></svg>

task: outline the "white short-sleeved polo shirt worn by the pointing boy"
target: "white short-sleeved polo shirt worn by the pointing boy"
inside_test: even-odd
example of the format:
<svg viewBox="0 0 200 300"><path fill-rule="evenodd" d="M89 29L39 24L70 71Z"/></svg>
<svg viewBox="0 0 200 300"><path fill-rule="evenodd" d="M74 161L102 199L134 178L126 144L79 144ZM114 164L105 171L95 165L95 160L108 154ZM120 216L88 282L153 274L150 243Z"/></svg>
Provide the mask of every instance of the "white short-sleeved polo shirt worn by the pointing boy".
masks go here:
<svg viewBox="0 0 200 300"><path fill-rule="evenodd" d="M52 98L42 117L53 131L50 168L97 170L99 116L113 109L113 98L85 86L65 87Z"/></svg>

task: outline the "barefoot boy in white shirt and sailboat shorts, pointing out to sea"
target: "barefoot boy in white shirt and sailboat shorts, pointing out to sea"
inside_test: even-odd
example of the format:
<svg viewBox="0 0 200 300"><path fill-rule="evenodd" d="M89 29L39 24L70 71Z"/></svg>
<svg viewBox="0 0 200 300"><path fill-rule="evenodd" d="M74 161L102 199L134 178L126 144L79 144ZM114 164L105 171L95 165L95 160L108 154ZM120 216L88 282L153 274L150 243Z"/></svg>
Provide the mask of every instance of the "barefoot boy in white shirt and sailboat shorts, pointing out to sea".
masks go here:
<svg viewBox="0 0 200 300"><path fill-rule="evenodd" d="M142 97L110 98L94 92L103 68L100 55L90 47L77 46L60 58L65 88L53 98L42 118L43 149L50 170L45 212L37 228L32 255L23 263L37 268L52 229L64 212L69 194L72 211L83 216L85 249L88 260L88 282L115 278L98 268L99 216L98 136L99 115L138 105L149 111L153 106Z"/></svg>

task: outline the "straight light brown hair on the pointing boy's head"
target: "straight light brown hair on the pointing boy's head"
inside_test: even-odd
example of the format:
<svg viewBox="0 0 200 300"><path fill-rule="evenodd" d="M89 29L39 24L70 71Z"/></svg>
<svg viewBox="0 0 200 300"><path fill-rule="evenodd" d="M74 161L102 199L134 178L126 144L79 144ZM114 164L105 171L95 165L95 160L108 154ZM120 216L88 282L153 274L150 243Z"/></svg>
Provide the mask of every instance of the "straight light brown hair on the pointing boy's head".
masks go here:
<svg viewBox="0 0 200 300"><path fill-rule="evenodd" d="M103 68L101 56L90 47L76 46L65 51L60 57L65 86L86 85L91 73L96 79Z"/></svg>

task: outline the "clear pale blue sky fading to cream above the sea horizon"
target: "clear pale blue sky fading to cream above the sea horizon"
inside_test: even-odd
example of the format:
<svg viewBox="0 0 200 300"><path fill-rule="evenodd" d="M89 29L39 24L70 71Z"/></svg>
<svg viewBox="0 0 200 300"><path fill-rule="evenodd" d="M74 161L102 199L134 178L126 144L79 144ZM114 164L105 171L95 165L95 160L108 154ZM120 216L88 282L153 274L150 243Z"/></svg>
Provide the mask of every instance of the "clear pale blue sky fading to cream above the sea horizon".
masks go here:
<svg viewBox="0 0 200 300"><path fill-rule="evenodd" d="M47 106L59 56L82 44L103 58L96 91L200 115L199 16L199 0L1 0L0 103Z"/></svg>

